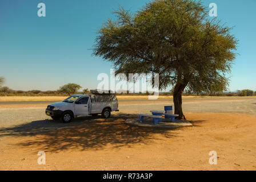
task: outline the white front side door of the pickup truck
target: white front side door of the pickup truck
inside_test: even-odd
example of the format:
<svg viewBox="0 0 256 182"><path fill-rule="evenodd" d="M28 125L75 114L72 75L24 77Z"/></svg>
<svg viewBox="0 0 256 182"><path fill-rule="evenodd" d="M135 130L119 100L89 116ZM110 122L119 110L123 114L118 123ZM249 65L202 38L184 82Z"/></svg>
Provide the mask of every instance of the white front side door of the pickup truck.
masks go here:
<svg viewBox="0 0 256 182"><path fill-rule="evenodd" d="M75 102L75 115L88 115L90 110L89 97L80 98Z"/></svg>

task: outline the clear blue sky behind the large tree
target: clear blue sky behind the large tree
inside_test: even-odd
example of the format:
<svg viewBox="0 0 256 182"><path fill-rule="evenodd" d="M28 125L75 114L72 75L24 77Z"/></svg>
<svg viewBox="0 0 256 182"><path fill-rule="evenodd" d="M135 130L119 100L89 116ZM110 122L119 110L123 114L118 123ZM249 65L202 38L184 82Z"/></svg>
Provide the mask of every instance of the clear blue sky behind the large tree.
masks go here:
<svg viewBox="0 0 256 182"><path fill-rule="evenodd" d="M45 3L46 17L37 15ZM135 12L145 0L0 0L0 76L14 90L56 90L75 82L97 88L99 73L113 65L92 56L97 30L118 6ZM256 1L210 0L218 19L233 27L239 40L229 90L256 90ZM209 8L210 10L210 8Z"/></svg>

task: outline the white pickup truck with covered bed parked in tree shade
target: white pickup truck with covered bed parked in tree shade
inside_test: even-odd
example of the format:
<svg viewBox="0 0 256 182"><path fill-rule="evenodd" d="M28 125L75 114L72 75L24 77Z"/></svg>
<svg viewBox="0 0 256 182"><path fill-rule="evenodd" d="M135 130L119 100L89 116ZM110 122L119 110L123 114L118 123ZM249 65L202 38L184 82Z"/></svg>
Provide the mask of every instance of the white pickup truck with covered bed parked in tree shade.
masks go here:
<svg viewBox="0 0 256 182"><path fill-rule="evenodd" d="M78 116L102 114L103 118L109 118L111 111L119 111L115 94L78 94L50 104L45 113L54 120L61 119L67 123Z"/></svg>

